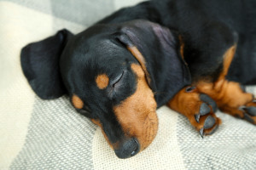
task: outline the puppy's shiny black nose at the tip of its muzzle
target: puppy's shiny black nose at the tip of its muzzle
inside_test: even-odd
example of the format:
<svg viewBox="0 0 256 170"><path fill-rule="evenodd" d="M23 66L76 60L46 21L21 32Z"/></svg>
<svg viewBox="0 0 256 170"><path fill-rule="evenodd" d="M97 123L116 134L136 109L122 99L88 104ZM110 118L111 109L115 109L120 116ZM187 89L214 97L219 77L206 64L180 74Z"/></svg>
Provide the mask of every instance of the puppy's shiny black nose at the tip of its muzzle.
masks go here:
<svg viewBox="0 0 256 170"><path fill-rule="evenodd" d="M118 150L114 150L116 156L121 159L135 156L140 150L140 144L136 138L127 139L125 142L119 145Z"/></svg>

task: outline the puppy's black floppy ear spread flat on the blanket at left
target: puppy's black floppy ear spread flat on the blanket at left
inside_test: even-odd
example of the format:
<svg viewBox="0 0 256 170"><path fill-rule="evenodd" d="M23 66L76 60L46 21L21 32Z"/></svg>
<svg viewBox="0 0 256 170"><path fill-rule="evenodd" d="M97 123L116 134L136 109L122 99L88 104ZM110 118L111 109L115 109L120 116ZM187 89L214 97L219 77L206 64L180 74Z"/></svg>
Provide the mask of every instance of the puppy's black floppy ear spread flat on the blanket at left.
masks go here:
<svg viewBox="0 0 256 170"><path fill-rule="evenodd" d="M40 42L22 48L20 62L33 91L42 99L55 99L66 93L61 80L59 59L73 34L66 29Z"/></svg>

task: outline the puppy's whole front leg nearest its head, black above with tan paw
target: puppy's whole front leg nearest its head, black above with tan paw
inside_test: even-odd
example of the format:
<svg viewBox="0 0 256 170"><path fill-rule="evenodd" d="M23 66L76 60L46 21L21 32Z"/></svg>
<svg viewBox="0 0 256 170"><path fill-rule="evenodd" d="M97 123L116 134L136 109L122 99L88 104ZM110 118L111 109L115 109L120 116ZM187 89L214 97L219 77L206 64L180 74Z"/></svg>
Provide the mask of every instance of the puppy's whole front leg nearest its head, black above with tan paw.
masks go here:
<svg viewBox="0 0 256 170"><path fill-rule="evenodd" d="M192 38L186 35L180 37L180 54L189 66L192 85L195 88L183 88L167 104L172 110L187 116L201 135L213 133L221 123L214 114L217 105L210 93L213 88L209 87L207 91L207 86L201 84L206 82L210 85L218 79L224 52L237 42L236 33L222 23L212 23L211 26L204 26L204 29L198 37L193 32L190 35ZM233 48L230 48L229 55L232 50ZM227 64L230 64L231 60L228 57Z"/></svg>

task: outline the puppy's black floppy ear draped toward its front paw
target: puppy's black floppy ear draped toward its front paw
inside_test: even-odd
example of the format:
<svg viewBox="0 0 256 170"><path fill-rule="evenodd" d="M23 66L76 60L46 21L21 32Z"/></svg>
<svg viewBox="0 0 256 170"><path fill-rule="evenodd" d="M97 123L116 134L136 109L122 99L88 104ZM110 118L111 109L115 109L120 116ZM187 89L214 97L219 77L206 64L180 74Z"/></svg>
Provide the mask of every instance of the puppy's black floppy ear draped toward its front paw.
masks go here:
<svg viewBox="0 0 256 170"><path fill-rule="evenodd" d="M158 107L191 84L189 68L180 54L176 32L137 20L121 28L117 38L142 65Z"/></svg>

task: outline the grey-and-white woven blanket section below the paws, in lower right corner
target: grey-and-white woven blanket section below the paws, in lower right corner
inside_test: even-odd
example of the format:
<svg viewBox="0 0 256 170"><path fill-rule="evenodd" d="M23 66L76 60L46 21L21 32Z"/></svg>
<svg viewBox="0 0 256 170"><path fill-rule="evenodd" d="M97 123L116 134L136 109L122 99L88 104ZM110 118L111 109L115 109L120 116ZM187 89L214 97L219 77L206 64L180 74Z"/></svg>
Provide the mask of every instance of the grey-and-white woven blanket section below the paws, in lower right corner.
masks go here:
<svg viewBox="0 0 256 170"><path fill-rule="evenodd" d="M247 92L256 94L248 87ZM184 116L178 116L177 140L187 169L256 169L256 127L218 111L222 124L199 139Z"/></svg>

